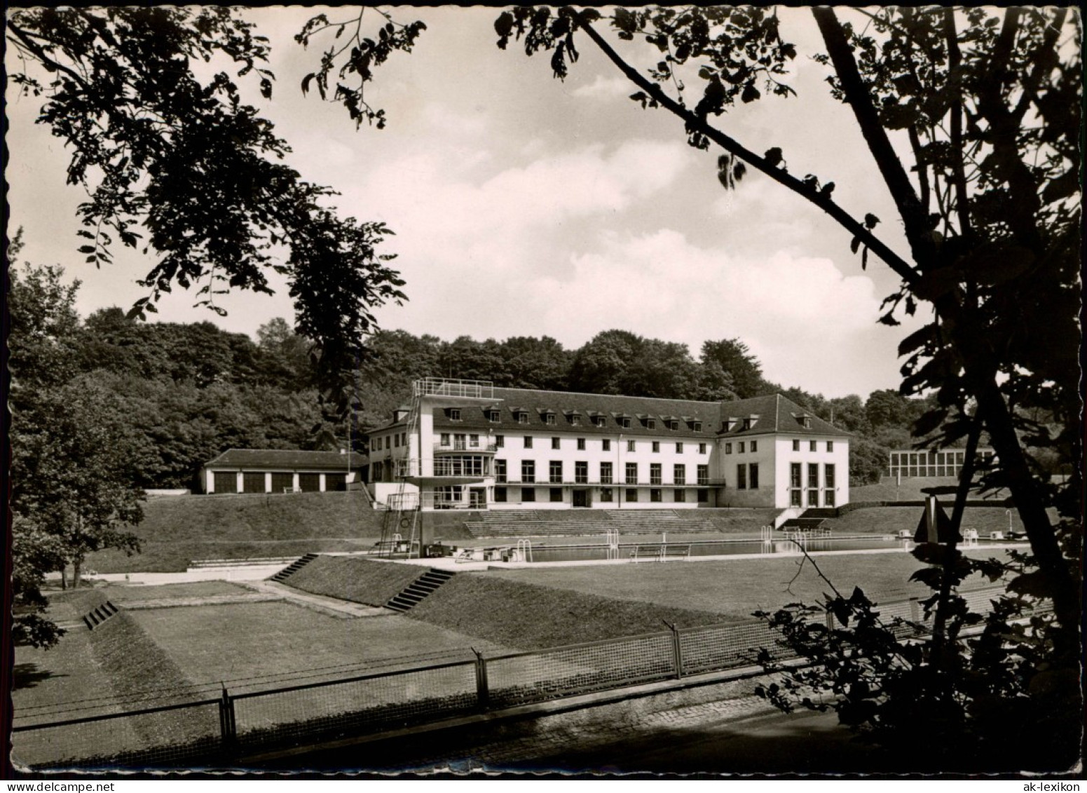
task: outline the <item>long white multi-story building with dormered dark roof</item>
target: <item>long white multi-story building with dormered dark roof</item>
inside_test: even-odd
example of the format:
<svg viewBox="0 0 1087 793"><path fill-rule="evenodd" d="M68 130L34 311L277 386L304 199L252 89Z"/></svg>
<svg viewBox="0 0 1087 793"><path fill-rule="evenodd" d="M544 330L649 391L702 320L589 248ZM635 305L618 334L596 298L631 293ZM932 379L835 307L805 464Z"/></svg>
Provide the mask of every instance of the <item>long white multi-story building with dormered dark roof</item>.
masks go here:
<svg viewBox="0 0 1087 793"><path fill-rule="evenodd" d="M836 507L850 434L780 395L733 401L418 381L370 435L378 503L423 509Z"/></svg>

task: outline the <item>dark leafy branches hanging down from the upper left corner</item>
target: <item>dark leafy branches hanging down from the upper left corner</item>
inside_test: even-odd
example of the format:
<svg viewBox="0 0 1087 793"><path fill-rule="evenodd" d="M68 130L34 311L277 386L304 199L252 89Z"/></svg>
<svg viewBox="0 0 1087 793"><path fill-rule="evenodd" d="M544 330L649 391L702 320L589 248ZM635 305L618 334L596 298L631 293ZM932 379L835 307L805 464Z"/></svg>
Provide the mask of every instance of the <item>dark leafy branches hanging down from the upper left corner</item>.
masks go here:
<svg viewBox="0 0 1087 793"><path fill-rule="evenodd" d="M175 286L197 287L198 303L222 312L225 289L268 293L268 273L279 273L298 332L323 352L321 372L329 387L341 382L364 351L373 309L403 300L403 282L377 252L389 230L327 208L333 191L283 164L287 144L242 102L235 76L272 96L266 39L236 10L210 7L20 9L5 29L24 64L12 83L43 98L39 122L64 139L68 183L88 193L79 251L107 263L115 235L153 258L140 282L148 296L132 313L154 311ZM410 50L421 30L386 46ZM236 75L201 80L195 62Z"/></svg>

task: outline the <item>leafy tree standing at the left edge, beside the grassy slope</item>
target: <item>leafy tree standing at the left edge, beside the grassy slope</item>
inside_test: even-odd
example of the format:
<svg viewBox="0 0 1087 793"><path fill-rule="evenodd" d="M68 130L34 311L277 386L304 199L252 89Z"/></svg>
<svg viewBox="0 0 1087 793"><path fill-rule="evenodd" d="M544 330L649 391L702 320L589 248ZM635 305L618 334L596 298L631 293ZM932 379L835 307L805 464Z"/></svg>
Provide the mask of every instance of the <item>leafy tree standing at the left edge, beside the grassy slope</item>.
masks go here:
<svg viewBox="0 0 1087 793"><path fill-rule="evenodd" d="M142 498L120 397L75 374L78 284L63 286L61 274L55 267L13 270L8 301L13 632L40 647L62 633L41 616L46 573L74 563L78 585L86 554L135 549L123 526L139 522Z"/></svg>

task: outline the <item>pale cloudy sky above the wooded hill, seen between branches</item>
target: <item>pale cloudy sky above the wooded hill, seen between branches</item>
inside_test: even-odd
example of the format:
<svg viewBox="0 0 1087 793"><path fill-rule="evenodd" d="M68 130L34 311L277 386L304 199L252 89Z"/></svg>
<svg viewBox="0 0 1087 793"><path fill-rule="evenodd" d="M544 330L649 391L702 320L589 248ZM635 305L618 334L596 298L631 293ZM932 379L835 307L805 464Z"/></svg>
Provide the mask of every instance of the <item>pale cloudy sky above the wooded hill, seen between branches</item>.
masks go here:
<svg viewBox="0 0 1087 793"><path fill-rule="evenodd" d="M250 101L291 146L288 162L339 193L342 214L396 232L382 247L397 255L409 301L378 309L382 327L448 340L546 335L567 349L622 329L686 344L696 358L705 340L738 337L786 387L827 397L897 387L898 343L926 318L919 309L901 326L877 324L894 273L874 257L862 270L847 232L761 174L725 191L720 152L690 148L678 120L630 101L634 86L587 39L559 80L547 55L496 47L495 9L397 8L398 22L421 18L427 29L367 88L387 127L357 129L341 107L299 88L327 45L307 51L292 37L317 11L246 12L271 39L276 75L273 99L253 91ZM852 115L810 58L821 51L810 12L779 13L783 37L798 45L788 83L799 97L764 97L717 125L754 151L782 148L791 173L833 181L835 199L854 216L879 216L877 231L909 259ZM640 44L621 51L641 69L658 60ZM83 315L127 308L145 295L135 281L152 262L118 249L102 270L83 263L84 194L65 184L67 152L34 123L35 100L8 99L9 233L24 228L22 258L78 278ZM285 282L272 284L272 297L221 300L226 317L195 308L196 295L178 288L158 319L252 335L293 315Z"/></svg>

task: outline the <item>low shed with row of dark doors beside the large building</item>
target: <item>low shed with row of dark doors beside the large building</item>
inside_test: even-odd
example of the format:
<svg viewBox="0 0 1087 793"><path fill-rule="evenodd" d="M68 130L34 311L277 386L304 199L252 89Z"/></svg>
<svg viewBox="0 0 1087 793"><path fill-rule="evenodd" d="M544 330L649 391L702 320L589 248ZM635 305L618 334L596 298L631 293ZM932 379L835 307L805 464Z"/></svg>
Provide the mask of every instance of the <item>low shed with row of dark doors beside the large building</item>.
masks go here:
<svg viewBox="0 0 1087 793"><path fill-rule="evenodd" d="M324 493L361 481L365 457L347 451L227 449L200 469L204 493Z"/></svg>

